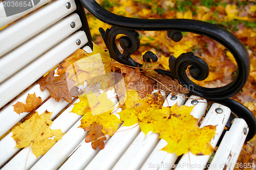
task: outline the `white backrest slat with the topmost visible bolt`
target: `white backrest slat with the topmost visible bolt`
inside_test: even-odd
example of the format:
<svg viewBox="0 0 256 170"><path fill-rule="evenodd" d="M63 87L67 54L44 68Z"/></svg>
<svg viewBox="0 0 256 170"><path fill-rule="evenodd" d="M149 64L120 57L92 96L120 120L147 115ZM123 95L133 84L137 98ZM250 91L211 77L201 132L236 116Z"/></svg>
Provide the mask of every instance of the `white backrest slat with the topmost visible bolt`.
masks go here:
<svg viewBox="0 0 256 170"><path fill-rule="evenodd" d="M71 8L66 8L70 2ZM54 1L0 31L0 56L76 10L74 0Z"/></svg>

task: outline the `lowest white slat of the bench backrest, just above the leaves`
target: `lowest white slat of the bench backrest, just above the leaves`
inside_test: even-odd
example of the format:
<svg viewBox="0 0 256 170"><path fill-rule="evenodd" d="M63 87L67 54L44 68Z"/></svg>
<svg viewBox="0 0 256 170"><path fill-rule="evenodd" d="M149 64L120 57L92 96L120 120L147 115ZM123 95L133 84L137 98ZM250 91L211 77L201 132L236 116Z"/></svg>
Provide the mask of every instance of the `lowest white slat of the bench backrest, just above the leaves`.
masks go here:
<svg viewBox="0 0 256 170"><path fill-rule="evenodd" d="M81 40L80 45L75 43L77 39ZM78 31L2 83L0 85L0 108L87 42L86 34Z"/></svg>

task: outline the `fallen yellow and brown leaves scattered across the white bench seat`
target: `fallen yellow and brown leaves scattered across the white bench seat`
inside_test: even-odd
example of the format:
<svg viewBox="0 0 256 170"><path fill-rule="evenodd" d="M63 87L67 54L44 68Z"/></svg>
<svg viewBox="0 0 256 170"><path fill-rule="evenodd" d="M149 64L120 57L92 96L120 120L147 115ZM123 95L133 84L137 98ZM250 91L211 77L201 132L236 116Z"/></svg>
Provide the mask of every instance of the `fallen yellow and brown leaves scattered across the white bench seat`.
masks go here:
<svg viewBox="0 0 256 170"><path fill-rule="evenodd" d="M138 123L145 134L149 131L159 133L159 137L168 142L164 151L175 152L177 155L187 151L195 154L212 152L209 142L215 135L215 127L199 129L198 119L189 114L192 108L163 108L165 96L160 91L152 93L158 87L167 93L189 92L187 89L180 90L177 80L159 75L155 71L159 64L144 62L142 68L131 68L112 63L110 55L100 46L94 44L94 50L92 54L78 50L61 62L56 72L51 70L38 80L41 90L47 88L57 102L60 98L71 102L72 96L78 96L79 102L73 104L71 112L82 116L79 128L88 131L86 142L92 142L93 149L103 149L106 135L116 133L121 123L123 126ZM115 100L111 100L110 94ZM35 100L35 94L30 98L29 95L27 104ZM27 106L17 103L14 105L15 110L19 105ZM116 113L117 110L119 113ZM26 117L24 123L16 125L12 129L12 137L17 141L16 147L24 148L31 144L32 152L37 157L46 153L63 135L60 130L52 131L49 128L52 123L50 116L51 113L47 111L40 116L33 112ZM163 124L166 126L162 127ZM182 124L186 128L179 128ZM188 132L193 135L188 135ZM202 132L207 134L203 136L205 140L195 142L202 136ZM38 140L44 141L45 146L42 147Z"/></svg>

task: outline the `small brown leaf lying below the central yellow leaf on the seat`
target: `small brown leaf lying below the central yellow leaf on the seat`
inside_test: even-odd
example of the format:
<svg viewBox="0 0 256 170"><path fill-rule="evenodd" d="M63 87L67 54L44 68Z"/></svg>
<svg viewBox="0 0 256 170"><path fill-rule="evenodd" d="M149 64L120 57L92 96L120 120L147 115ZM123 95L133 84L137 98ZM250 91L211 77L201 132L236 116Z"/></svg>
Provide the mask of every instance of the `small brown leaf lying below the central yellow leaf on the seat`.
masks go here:
<svg viewBox="0 0 256 170"><path fill-rule="evenodd" d="M106 140L106 137L104 136L104 133L101 132L102 128L103 127L96 122L93 122L92 125L84 128L84 131L89 131L86 135L86 142L92 142L92 148L95 150L97 148L102 150L105 147L104 140Z"/></svg>

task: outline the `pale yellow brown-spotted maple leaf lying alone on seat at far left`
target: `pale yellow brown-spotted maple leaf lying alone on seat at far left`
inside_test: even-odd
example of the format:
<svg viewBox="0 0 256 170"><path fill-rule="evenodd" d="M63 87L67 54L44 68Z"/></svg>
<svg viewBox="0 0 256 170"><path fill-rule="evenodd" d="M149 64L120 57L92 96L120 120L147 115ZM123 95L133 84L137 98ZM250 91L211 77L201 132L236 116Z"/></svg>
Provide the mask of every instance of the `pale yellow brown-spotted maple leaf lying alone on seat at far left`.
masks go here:
<svg viewBox="0 0 256 170"><path fill-rule="evenodd" d="M25 148L31 145L36 157L44 155L64 134L60 129L50 129L51 115L52 112L47 110L40 115L33 112L26 117L25 122L15 125L12 128L12 138L16 141L15 148Z"/></svg>

